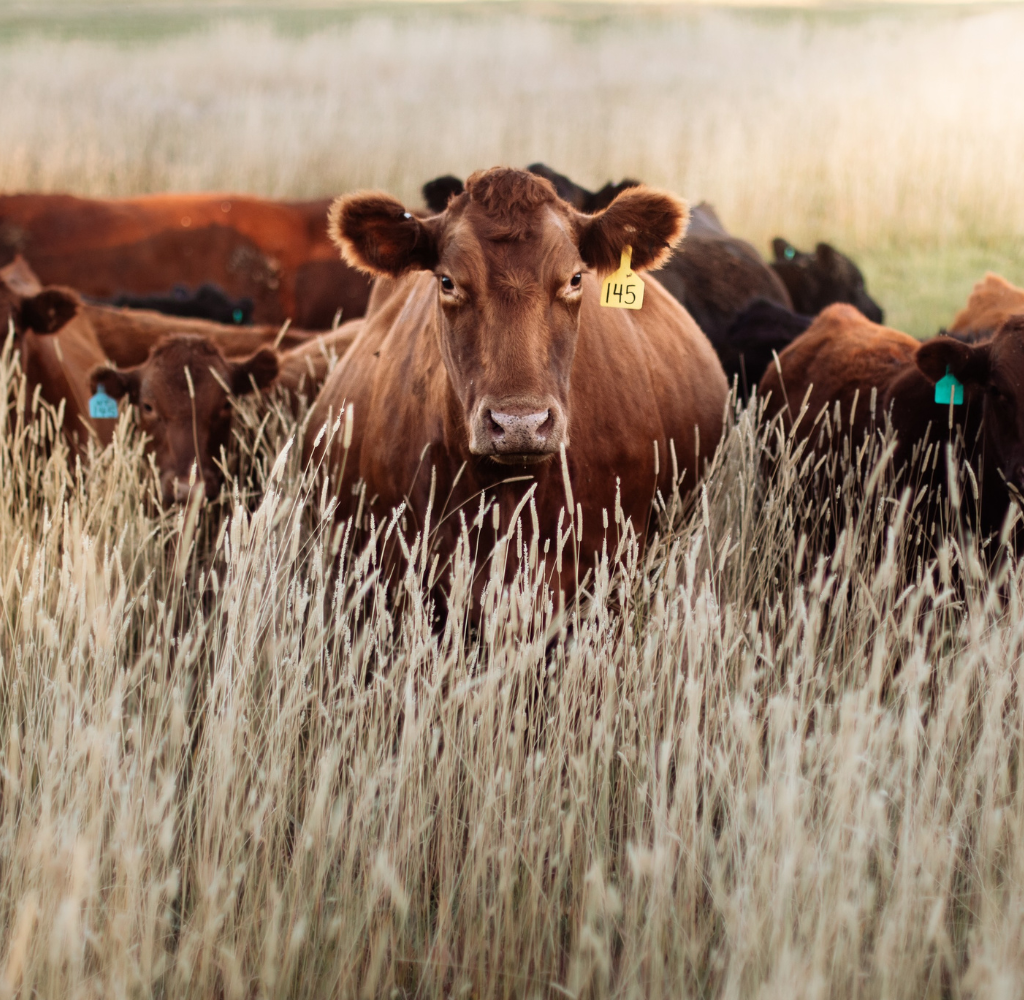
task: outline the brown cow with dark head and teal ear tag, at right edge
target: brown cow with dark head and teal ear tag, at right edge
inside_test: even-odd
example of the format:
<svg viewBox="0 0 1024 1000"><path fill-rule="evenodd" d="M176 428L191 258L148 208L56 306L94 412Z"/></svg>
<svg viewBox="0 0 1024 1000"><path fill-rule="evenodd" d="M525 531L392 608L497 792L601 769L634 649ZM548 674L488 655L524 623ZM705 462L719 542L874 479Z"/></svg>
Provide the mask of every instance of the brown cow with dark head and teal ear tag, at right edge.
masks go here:
<svg viewBox="0 0 1024 1000"><path fill-rule="evenodd" d="M834 305L778 360L781 377L771 365L760 392L770 394L769 416L781 411L786 427L810 392L798 425L801 437L821 435L818 415L825 410L830 420L838 403L843 428L852 425L848 433L860 444L872 426L873 389L874 426L884 426L884 415L892 414L897 470L926 434L932 441L963 437L978 471L985 530L998 528L1006 514L1005 483L1024 490L1024 316L1012 317L987 341L936 337L921 343L872 323L853 306ZM952 407L952 429L949 404L935 401L935 383L947 371L964 385L964 402ZM840 441L844 432L831 441Z"/></svg>

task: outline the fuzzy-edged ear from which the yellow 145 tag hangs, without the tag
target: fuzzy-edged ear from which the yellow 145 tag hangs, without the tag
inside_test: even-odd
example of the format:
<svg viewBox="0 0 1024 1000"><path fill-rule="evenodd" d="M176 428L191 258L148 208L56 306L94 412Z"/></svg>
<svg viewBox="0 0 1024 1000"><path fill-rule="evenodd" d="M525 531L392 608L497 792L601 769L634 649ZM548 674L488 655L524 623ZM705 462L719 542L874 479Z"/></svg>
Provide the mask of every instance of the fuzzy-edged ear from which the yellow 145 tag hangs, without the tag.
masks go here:
<svg viewBox="0 0 1024 1000"><path fill-rule="evenodd" d="M630 187L603 212L577 216L580 256L589 267L606 274L618 266L623 248L633 248L633 268L663 264L686 231L686 203L650 187Z"/></svg>

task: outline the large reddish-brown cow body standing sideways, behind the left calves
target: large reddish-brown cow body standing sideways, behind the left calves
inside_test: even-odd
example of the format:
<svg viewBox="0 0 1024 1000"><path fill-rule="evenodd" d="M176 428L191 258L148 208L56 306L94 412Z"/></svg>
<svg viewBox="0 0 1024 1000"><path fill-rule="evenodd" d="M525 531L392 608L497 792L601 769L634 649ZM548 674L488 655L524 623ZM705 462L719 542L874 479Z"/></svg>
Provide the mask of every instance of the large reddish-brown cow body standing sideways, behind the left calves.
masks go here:
<svg viewBox="0 0 1024 1000"><path fill-rule="evenodd" d="M44 285L97 299L160 295L206 282L251 299L253 321L325 330L362 314L370 282L338 260L329 201L236 194L90 200L0 197L0 264L28 258Z"/></svg>

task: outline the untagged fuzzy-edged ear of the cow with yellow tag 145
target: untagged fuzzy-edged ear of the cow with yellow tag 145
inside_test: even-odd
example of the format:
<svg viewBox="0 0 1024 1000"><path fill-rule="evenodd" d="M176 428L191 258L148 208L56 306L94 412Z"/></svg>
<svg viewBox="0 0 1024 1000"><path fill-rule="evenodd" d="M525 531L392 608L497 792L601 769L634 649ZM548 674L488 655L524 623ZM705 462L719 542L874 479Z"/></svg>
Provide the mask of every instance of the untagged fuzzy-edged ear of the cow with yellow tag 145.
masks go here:
<svg viewBox="0 0 1024 1000"><path fill-rule="evenodd" d="M358 191L331 206L328 232L341 256L360 271L397 277L411 270L433 270L437 240L429 220L407 212L389 194Z"/></svg>

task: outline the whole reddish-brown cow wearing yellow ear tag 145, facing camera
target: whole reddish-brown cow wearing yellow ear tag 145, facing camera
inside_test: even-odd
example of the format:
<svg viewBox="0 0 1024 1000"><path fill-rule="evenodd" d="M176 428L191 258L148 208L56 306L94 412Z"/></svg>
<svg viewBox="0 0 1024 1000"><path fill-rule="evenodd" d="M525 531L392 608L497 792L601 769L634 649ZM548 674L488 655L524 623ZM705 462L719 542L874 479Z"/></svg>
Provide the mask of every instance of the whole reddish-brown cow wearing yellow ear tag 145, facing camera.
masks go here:
<svg viewBox="0 0 1024 1000"><path fill-rule="evenodd" d="M626 244L634 267L656 266L685 222L684 203L644 187L583 215L549 181L507 168L473 174L426 219L383 193L339 199L332 227L348 261L395 278L329 377L306 436L306 459L327 459L340 516L356 511L361 478L377 523L407 498L422 519L433 467L443 558L459 537L453 512L482 492L507 530L532 485L551 538L566 506L565 448L583 513L581 575L606 536L616 484L643 536L655 490L672 489L670 442L692 486L698 455L721 436L728 387L708 340L656 280L643 308L626 312L598 306L594 272L617 267ZM337 435L325 454L321 429L344 405L351 447ZM575 572L566 554L566 590Z"/></svg>

